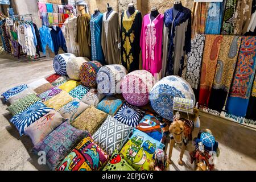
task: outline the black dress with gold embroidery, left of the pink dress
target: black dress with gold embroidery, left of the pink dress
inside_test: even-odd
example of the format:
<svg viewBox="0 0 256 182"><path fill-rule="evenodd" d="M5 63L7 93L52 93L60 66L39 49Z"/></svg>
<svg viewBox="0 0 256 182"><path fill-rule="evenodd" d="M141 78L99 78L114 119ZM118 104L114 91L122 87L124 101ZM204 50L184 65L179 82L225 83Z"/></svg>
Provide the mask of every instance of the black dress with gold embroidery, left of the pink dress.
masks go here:
<svg viewBox="0 0 256 182"><path fill-rule="evenodd" d="M141 12L135 10L128 17L126 10L121 17L121 63L128 72L133 72L139 69L142 15Z"/></svg>

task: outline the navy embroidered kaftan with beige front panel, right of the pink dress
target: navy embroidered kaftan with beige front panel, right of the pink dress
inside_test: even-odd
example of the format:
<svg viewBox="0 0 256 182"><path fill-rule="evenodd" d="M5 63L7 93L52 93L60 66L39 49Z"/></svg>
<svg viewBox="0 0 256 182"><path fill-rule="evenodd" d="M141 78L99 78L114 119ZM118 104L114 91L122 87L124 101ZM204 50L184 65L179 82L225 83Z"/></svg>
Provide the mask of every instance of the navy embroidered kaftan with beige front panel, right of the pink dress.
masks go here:
<svg viewBox="0 0 256 182"><path fill-rule="evenodd" d="M169 28L166 76L181 76L184 56L191 51L191 10L183 7L175 17L172 11L164 13L164 24Z"/></svg>

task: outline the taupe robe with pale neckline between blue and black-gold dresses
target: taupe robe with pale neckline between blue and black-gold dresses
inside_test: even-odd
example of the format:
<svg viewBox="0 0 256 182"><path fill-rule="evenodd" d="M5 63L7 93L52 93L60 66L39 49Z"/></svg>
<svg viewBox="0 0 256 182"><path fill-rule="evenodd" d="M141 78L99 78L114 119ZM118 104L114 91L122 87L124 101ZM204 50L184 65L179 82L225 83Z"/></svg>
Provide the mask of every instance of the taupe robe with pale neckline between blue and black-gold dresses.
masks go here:
<svg viewBox="0 0 256 182"><path fill-rule="evenodd" d="M105 56L106 64L120 64L120 49L118 44L121 42L119 35L119 20L118 13L112 11L106 19L106 14L103 14L101 46Z"/></svg>

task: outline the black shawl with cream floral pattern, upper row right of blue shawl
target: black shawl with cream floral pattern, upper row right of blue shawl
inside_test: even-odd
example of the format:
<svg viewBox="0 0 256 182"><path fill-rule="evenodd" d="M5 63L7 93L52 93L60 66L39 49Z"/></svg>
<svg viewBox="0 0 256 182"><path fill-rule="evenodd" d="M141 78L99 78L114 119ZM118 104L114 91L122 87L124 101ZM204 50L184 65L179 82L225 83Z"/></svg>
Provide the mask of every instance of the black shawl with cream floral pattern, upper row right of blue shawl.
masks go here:
<svg viewBox="0 0 256 182"><path fill-rule="evenodd" d="M234 22L236 13L237 0L227 0L222 23L221 34L230 35L234 32Z"/></svg>

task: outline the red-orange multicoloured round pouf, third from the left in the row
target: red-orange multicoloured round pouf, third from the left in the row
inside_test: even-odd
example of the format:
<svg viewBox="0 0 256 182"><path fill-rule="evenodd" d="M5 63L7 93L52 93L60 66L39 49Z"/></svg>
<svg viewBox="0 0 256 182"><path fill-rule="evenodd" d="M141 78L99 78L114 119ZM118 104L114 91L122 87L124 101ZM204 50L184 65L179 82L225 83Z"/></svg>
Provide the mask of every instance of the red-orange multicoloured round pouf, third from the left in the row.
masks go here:
<svg viewBox="0 0 256 182"><path fill-rule="evenodd" d="M102 67L99 61L90 61L87 63L82 63L80 67L80 80L83 85L96 88L97 73Z"/></svg>

